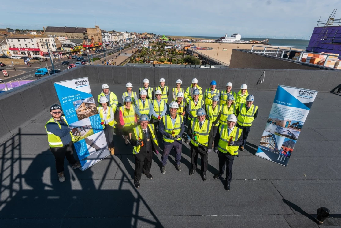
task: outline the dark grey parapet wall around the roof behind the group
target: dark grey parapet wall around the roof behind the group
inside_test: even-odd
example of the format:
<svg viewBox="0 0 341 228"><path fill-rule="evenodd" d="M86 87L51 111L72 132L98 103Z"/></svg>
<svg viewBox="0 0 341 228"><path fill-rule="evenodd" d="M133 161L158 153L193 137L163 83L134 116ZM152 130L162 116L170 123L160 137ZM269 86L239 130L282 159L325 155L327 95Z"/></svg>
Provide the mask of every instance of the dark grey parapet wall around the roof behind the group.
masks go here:
<svg viewBox="0 0 341 228"><path fill-rule="evenodd" d="M264 81L260 83L264 71ZM80 66L1 93L0 140L40 117L51 104L59 103L54 82L80 77L88 77L90 85L107 83L125 86L131 82L134 91L142 87L145 78L151 87L158 86L160 78L164 78L170 88L175 87L177 79L181 79L182 87L186 88L195 77L203 90L209 88L212 80L217 82L219 89L232 82L234 89L245 83L251 90L276 90L278 85L287 85L329 92L341 84L340 71Z"/></svg>

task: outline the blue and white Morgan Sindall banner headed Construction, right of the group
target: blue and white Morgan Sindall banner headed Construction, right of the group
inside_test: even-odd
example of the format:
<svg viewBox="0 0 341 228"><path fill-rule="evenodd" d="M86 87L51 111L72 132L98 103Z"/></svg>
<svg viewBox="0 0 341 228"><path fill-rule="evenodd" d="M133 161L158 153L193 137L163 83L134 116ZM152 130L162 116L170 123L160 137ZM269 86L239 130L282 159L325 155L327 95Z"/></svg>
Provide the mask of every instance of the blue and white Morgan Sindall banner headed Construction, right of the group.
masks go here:
<svg viewBox="0 0 341 228"><path fill-rule="evenodd" d="M256 156L287 166L317 91L277 87Z"/></svg>

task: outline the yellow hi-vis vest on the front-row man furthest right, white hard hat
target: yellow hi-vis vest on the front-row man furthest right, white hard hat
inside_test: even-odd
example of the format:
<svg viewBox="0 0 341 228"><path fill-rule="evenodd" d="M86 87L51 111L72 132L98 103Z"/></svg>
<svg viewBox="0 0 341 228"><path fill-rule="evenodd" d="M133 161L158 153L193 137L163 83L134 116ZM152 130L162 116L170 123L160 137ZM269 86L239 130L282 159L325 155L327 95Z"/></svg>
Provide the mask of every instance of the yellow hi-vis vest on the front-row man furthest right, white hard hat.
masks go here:
<svg viewBox="0 0 341 228"><path fill-rule="evenodd" d="M231 134L228 134L227 125L222 124L219 126L220 139L218 142L218 150L221 153L229 153L231 155L238 154L238 146L229 146L228 141L233 137L233 141L237 141L241 136L242 130L234 126Z"/></svg>

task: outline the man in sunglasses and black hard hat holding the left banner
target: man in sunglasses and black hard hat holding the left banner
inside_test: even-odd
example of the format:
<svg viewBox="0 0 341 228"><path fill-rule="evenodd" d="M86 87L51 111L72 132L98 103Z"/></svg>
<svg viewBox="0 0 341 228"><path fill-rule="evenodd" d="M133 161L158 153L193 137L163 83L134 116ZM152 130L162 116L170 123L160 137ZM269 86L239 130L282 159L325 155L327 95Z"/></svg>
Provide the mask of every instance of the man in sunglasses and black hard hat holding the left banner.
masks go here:
<svg viewBox="0 0 341 228"><path fill-rule="evenodd" d="M65 181L64 177L64 159L69 161L72 169L80 168L79 161L76 161L73 156L75 140L72 134L72 128L69 128L68 122L62 116L62 108L59 104L53 104L50 108L52 117L45 124L47 133L48 145L56 159L56 169L58 180Z"/></svg>

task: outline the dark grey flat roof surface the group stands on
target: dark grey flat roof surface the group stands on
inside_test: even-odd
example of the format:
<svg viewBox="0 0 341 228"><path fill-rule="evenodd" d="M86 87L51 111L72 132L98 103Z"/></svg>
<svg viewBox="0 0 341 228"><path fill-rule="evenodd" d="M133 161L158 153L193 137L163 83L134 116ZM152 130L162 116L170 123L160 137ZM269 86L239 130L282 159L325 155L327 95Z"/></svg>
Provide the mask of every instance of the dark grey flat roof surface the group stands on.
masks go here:
<svg viewBox="0 0 341 228"><path fill-rule="evenodd" d="M97 96L101 84L90 86ZM109 86L120 98L125 87ZM275 93L249 91L255 96L258 117L246 151L235 158L230 191L224 189L223 179L213 179L218 172L218 156L213 152L208 156L206 182L201 179L200 165L189 175L188 144L182 145L181 172L175 168L174 152L165 174L160 171L161 154L154 154L153 179L143 175L141 187L136 189L132 147L125 146L119 135L115 135L115 155L84 172L72 170L65 161L66 181L59 183L44 128L50 118L47 111L0 143L1 227L323 228L313 221L322 206L336 217L325 223L334 221L337 225L333 228L341 227L341 146L337 133L341 96L317 94L284 167L254 156Z"/></svg>

